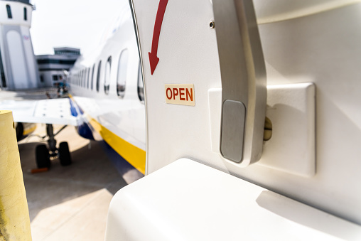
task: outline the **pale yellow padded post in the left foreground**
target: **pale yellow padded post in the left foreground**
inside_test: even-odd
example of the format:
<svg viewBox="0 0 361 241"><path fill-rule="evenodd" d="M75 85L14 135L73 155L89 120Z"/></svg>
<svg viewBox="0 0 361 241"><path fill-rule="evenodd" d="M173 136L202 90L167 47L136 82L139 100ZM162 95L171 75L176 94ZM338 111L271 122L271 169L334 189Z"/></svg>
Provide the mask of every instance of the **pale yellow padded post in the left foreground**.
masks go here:
<svg viewBox="0 0 361 241"><path fill-rule="evenodd" d="M3 240L31 240L14 119L7 110L0 110L0 241Z"/></svg>

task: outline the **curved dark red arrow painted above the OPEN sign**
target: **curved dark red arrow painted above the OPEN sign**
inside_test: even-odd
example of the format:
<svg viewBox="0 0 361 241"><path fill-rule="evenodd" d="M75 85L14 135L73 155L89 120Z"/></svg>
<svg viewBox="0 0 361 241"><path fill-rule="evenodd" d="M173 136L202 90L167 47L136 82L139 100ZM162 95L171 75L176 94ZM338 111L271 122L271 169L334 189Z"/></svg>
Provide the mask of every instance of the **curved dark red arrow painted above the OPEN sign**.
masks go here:
<svg viewBox="0 0 361 241"><path fill-rule="evenodd" d="M159 62L159 58L157 57L156 53L158 52L159 35L161 34L161 27L167 4L168 0L160 0L158 11L156 12L156 22L154 23L153 39L151 41L151 52L149 52L149 63L151 64L152 75L154 70L156 70L156 65L158 65Z"/></svg>

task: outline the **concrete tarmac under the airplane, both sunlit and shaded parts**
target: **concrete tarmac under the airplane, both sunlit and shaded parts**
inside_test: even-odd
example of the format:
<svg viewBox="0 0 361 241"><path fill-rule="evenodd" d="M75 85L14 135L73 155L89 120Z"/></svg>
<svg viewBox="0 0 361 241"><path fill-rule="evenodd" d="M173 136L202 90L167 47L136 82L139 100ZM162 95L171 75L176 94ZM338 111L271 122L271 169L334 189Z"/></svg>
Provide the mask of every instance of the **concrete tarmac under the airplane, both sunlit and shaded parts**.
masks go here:
<svg viewBox="0 0 361 241"><path fill-rule="evenodd" d="M60 128L54 125L54 132ZM34 134L44 136L45 124ZM68 141L72 164L61 166L55 159L48 171L33 174L35 148L44 142L31 136L18 143L33 240L104 240L110 200L126 181L102 144L78 136L75 127L55 139Z"/></svg>

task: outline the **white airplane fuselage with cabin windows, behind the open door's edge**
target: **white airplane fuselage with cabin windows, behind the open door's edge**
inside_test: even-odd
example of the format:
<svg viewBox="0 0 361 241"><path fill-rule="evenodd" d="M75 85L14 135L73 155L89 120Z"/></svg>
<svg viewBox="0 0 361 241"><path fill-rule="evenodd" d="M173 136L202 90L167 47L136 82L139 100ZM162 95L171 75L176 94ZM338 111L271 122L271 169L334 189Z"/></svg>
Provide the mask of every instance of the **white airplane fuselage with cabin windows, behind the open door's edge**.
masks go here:
<svg viewBox="0 0 361 241"><path fill-rule="evenodd" d="M94 138L104 139L113 148L122 146L119 141L135 146L144 152L141 165L145 168L143 80L130 9L122 18L102 48L78 58L70 70L68 83L74 96L72 100L84 112L84 121L89 122L95 131ZM102 129L109 132L104 134ZM126 151L126 148L114 149L121 156L122 151Z"/></svg>

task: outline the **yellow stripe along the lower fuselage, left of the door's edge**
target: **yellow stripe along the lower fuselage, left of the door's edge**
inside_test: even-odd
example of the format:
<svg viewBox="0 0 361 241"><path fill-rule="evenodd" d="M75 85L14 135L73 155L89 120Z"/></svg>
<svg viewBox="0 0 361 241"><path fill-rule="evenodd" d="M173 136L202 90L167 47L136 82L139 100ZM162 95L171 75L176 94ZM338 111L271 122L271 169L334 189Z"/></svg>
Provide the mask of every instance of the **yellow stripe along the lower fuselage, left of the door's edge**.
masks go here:
<svg viewBox="0 0 361 241"><path fill-rule="evenodd" d="M102 124L93 118L90 119L90 124L97 132L99 132L104 141L106 141L109 146L112 146L112 149L117 151L117 153L126 159L129 164L143 174L146 172L146 151L125 141L109 131L109 129L103 127Z"/></svg>

